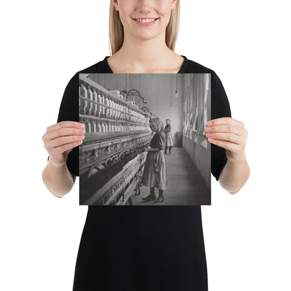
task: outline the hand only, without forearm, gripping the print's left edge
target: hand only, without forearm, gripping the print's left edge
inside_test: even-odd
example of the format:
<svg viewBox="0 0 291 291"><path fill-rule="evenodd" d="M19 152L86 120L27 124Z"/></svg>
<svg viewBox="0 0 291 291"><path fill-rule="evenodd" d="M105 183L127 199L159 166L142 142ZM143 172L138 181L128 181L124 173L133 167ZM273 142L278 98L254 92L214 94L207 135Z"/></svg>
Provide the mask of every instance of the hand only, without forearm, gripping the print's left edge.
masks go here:
<svg viewBox="0 0 291 291"><path fill-rule="evenodd" d="M63 166L69 152L80 146L85 139L84 125L80 122L62 121L46 129L43 135L45 150L50 155L50 162L55 166Z"/></svg>

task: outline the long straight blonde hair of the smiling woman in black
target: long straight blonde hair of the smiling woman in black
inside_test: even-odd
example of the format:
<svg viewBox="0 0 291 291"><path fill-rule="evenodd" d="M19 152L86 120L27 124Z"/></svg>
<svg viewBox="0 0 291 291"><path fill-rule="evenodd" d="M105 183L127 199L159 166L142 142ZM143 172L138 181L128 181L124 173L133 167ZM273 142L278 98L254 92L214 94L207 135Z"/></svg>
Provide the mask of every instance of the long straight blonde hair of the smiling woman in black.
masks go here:
<svg viewBox="0 0 291 291"><path fill-rule="evenodd" d="M178 38L178 30L180 24L180 0L176 0L176 5L171 10L169 24L166 26L166 46L171 50L175 50L176 41ZM111 55L114 55L121 47L125 34L123 25L120 20L119 11L113 6L110 0L109 7L109 50Z"/></svg>

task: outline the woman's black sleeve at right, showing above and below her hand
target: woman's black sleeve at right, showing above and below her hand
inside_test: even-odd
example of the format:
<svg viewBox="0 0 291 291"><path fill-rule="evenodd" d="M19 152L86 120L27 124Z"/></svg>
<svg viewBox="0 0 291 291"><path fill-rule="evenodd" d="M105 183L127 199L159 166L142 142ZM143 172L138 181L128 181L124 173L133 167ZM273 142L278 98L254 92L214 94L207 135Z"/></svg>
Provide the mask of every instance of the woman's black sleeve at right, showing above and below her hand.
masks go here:
<svg viewBox="0 0 291 291"><path fill-rule="evenodd" d="M211 74L211 119L232 117L229 101L225 88L215 72ZM224 148L211 144L211 173L216 180L219 179L220 171L227 163Z"/></svg>

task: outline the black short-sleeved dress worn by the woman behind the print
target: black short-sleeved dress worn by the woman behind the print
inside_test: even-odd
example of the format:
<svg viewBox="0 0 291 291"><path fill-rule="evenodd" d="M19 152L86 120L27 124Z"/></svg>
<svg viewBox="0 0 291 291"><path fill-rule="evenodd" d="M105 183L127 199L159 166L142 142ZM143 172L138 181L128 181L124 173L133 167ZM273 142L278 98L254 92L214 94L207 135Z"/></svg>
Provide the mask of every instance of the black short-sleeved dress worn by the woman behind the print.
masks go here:
<svg viewBox="0 0 291 291"><path fill-rule="evenodd" d="M231 117L220 79L185 56L178 73L211 73L211 118ZM113 73L106 61L78 73ZM78 121L78 73L69 81L58 122ZM78 148L67 166L78 176ZM211 146L218 180L225 150ZM201 206L88 206L73 291L206 291L207 267Z"/></svg>

